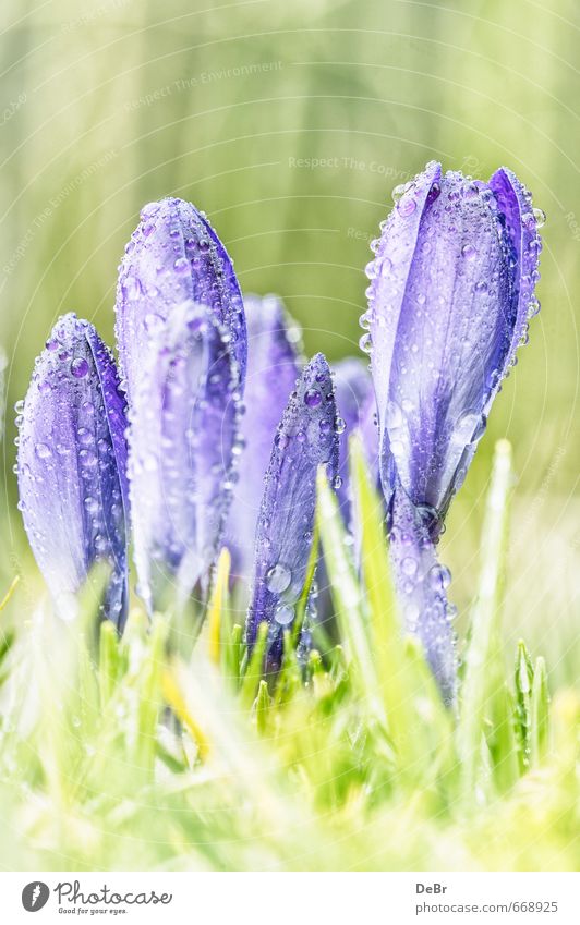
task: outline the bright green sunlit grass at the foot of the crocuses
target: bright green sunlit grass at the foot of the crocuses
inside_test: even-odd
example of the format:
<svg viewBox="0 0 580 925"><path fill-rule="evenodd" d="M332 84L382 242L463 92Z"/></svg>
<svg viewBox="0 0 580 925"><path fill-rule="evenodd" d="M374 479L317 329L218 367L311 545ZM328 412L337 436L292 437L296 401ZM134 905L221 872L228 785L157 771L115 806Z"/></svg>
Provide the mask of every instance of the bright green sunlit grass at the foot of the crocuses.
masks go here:
<svg viewBox="0 0 580 925"><path fill-rule="evenodd" d="M223 551L195 645L137 605L96 631L15 583L0 613L0 865L12 869L576 869L578 692L548 692L502 608L513 476L496 447L480 581L446 710L399 625L380 504L357 447L360 573L321 475L317 535L339 644L287 632L251 657ZM193 635L193 634L192 634ZM192 649L190 652L190 649Z"/></svg>

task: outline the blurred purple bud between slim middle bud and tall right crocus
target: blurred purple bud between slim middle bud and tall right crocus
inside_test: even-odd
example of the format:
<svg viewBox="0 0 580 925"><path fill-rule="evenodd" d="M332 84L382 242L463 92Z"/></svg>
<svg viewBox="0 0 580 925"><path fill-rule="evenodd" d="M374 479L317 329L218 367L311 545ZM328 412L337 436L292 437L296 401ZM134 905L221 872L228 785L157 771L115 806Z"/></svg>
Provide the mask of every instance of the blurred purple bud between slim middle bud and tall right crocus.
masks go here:
<svg viewBox="0 0 580 925"><path fill-rule="evenodd" d="M378 433L374 417L376 410L373 380L368 367L359 357L349 356L333 367L335 375L336 402L339 415L340 439L337 489L340 508L346 523L350 521L349 489L349 437L359 431L366 461L378 482Z"/></svg>

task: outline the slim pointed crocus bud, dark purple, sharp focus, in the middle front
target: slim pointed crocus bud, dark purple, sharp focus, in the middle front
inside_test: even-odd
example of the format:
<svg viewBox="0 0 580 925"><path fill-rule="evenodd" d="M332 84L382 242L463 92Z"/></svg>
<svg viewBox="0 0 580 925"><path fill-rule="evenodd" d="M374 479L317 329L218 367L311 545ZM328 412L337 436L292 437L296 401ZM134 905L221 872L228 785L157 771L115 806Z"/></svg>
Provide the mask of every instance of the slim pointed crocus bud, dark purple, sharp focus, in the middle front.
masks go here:
<svg viewBox="0 0 580 925"><path fill-rule="evenodd" d="M254 583L246 636L271 628L269 664L281 655L282 631L292 624L304 592L316 507L316 471L338 472L335 391L322 353L306 364L278 427L266 473L256 531ZM309 589L306 589L309 591Z"/></svg>

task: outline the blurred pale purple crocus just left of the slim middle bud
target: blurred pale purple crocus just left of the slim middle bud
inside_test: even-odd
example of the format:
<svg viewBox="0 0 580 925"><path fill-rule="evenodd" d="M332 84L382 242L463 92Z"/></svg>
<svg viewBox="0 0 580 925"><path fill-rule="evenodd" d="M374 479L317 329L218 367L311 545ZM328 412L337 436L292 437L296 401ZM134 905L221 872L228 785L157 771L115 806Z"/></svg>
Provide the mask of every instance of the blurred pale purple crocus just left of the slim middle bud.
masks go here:
<svg viewBox="0 0 580 925"><path fill-rule="evenodd" d="M300 331L276 296L245 299L247 372L245 414L241 434L245 443L233 491L223 543L232 553L232 575L251 579L256 523L276 428L288 395L300 376Z"/></svg>

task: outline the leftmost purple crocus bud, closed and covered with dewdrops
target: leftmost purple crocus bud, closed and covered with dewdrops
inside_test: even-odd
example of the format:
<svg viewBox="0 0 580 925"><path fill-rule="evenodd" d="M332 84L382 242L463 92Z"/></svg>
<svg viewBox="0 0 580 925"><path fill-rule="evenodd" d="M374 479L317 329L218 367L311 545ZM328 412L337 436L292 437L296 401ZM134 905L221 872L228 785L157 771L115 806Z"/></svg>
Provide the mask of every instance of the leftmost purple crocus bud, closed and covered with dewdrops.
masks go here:
<svg viewBox="0 0 580 925"><path fill-rule="evenodd" d="M126 421L114 361L88 321L60 318L36 361L20 429L20 509L62 617L97 561L110 565L102 612L126 614Z"/></svg>

